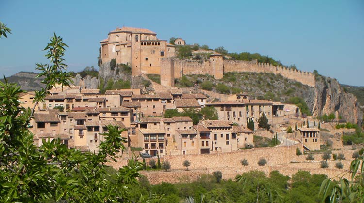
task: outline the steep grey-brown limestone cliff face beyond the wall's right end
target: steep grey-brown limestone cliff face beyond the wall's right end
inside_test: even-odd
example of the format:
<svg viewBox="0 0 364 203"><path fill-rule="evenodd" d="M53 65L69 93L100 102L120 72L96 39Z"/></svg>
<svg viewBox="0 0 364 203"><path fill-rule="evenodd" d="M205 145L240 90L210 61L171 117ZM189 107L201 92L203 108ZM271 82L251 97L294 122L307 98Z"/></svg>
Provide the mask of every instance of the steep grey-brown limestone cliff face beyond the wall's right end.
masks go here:
<svg viewBox="0 0 364 203"><path fill-rule="evenodd" d="M345 92L336 79L318 76L315 82L313 116L335 113L352 123L362 123L363 112L357 98ZM310 98L309 98L310 99Z"/></svg>

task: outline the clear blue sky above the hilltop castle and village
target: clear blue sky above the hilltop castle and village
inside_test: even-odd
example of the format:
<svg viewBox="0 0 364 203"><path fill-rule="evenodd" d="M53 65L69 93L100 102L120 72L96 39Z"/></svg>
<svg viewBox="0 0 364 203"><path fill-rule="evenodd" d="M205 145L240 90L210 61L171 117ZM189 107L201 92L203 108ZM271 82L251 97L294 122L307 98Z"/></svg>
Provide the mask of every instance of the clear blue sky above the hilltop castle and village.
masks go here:
<svg viewBox="0 0 364 203"><path fill-rule="evenodd" d="M69 48L70 71L97 67L99 41L117 26L147 28L160 39L260 53L303 71L364 86L364 0L0 0L0 73L34 71L53 32Z"/></svg>

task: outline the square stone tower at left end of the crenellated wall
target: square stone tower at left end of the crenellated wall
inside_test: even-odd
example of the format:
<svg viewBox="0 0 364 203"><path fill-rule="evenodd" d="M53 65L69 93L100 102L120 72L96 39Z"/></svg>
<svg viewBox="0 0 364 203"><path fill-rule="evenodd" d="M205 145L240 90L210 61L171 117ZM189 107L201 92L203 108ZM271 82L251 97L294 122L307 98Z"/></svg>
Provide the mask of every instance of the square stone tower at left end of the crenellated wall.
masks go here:
<svg viewBox="0 0 364 203"><path fill-rule="evenodd" d="M161 85L174 87L173 58L161 58Z"/></svg>

